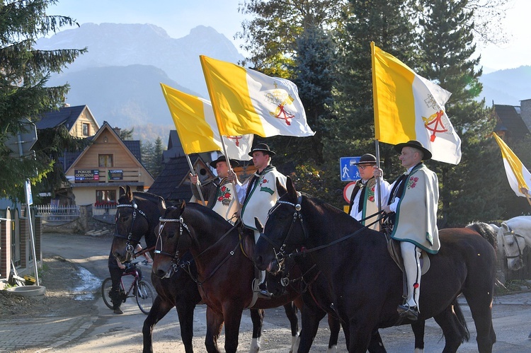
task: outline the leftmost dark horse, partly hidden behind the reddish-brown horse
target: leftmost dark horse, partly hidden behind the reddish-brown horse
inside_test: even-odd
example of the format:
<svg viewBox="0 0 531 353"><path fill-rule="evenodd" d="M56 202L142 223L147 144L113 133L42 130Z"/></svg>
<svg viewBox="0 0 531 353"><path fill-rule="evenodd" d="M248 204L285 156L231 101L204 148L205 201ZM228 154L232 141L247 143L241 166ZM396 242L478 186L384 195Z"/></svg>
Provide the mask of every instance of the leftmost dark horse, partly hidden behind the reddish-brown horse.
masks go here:
<svg viewBox="0 0 531 353"><path fill-rule="evenodd" d="M132 192L130 187L127 190L121 188L120 199L118 200L118 212L116 214L116 229L113 239L113 255L120 260L131 260L135 254L132 252L135 245L144 236L147 247L154 247L156 243L156 225L159 224L161 216L159 212L159 200L162 197L150 194L149 192ZM152 257L154 256L152 250ZM185 265L185 270L181 265ZM183 265L184 267L184 265ZM191 277L190 277L191 275ZM176 263L169 275L165 278L156 277L152 272L152 284L158 296L146 320L142 333L144 336L143 352L153 352L153 329L171 308L175 307L181 324L181 339L185 346L185 352L193 352L193 313L197 303L201 301L198 286L193 281L197 276L195 262L193 262L190 252L185 252L181 258L181 263ZM285 305L287 318L290 319L292 336L298 333L298 318L295 308L290 303ZM262 332L263 310L253 309L250 311L253 323L253 342L251 347L258 349ZM336 335L337 342L337 335Z"/></svg>

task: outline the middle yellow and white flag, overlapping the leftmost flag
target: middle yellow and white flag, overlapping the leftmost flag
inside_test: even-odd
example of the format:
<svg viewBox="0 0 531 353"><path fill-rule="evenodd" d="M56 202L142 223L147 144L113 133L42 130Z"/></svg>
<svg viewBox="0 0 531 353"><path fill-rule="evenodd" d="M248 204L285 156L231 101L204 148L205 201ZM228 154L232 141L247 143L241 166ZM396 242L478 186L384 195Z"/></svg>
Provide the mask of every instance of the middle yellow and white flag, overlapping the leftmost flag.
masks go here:
<svg viewBox="0 0 531 353"><path fill-rule="evenodd" d="M220 134L313 136L295 83L200 55Z"/></svg>

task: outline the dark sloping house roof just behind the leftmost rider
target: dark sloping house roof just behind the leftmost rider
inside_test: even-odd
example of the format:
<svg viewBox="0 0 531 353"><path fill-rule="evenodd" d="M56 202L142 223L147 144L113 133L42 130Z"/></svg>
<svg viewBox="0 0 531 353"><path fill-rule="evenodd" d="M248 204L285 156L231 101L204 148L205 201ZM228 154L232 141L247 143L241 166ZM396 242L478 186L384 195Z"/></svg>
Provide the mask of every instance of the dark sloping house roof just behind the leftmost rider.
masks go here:
<svg viewBox="0 0 531 353"><path fill-rule="evenodd" d="M190 159L195 165L200 156L191 154ZM185 156L170 158L148 191L164 197L166 201L188 200L192 197L188 173L190 173L190 166Z"/></svg>

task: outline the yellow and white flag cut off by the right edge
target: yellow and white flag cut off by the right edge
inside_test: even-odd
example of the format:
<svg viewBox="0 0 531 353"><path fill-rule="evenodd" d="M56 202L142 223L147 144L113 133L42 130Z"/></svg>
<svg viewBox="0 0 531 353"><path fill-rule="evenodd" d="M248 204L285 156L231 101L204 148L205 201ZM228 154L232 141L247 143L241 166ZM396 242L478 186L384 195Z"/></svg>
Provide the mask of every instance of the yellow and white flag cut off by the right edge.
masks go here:
<svg viewBox="0 0 531 353"><path fill-rule="evenodd" d="M510 188L513 189L516 196L527 197L522 192L522 188L529 190L531 185L531 173L525 166L520 162L520 159L510 150L509 146L498 137L496 132L492 133L498 146L501 149L501 156L503 157L503 166L506 168L507 180L509 181Z"/></svg>

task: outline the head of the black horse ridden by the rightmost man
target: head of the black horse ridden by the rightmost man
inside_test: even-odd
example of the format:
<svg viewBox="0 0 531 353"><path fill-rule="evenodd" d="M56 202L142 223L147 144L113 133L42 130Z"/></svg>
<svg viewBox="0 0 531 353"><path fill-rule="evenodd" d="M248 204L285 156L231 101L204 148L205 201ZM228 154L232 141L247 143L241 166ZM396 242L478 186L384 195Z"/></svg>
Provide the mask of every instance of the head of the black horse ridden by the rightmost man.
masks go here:
<svg viewBox="0 0 531 353"><path fill-rule="evenodd" d="M277 203L270 209L265 225L256 221L256 228L261 231L254 248L253 260L258 270L276 273L287 255L304 245L304 228L302 226L302 195L295 190L290 177L287 188L277 180L280 195Z"/></svg>

